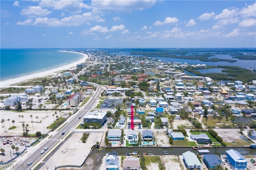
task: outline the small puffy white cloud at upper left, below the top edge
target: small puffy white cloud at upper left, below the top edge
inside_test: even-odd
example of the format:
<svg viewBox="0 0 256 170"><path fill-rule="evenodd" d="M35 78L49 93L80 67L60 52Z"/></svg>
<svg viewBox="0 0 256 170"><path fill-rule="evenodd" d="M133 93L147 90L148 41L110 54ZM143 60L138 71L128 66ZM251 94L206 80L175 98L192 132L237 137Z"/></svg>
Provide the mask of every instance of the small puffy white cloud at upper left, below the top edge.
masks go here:
<svg viewBox="0 0 256 170"><path fill-rule="evenodd" d="M52 13L52 11L42 9L41 6L29 6L28 8L22 9L20 12L21 15L26 15L30 17L47 16L50 13Z"/></svg>

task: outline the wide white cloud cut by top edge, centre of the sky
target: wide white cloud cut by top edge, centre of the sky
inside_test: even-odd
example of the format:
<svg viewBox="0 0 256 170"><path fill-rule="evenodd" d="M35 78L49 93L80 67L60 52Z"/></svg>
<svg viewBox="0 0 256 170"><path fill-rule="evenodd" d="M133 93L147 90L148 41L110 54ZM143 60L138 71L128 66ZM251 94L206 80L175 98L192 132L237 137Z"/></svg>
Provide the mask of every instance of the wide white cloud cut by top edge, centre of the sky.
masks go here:
<svg viewBox="0 0 256 170"><path fill-rule="evenodd" d="M151 8L155 3L155 0L92 0L91 6L93 13L129 13L132 10Z"/></svg>

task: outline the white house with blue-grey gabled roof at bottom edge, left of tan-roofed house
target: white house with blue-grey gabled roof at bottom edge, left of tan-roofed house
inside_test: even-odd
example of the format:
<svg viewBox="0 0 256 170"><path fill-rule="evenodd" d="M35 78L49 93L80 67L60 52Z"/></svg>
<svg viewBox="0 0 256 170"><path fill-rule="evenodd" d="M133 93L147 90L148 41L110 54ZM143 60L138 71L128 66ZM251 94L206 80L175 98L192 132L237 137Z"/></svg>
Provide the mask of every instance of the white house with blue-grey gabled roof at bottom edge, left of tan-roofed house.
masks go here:
<svg viewBox="0 0 256 170"><path fill-rule="evenodd" d="M105 170L119 170L119 161L116 152L106 153Z"/></svg>

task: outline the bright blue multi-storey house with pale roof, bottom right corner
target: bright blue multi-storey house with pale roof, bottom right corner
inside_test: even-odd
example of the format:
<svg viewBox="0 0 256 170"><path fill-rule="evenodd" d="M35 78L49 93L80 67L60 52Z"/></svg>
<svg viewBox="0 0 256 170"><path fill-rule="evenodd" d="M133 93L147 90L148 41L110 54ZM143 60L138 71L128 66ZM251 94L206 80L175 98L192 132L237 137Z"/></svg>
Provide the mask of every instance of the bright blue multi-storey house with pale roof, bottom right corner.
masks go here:
<svg viewBox="0 0 256 170"><path fill-rule="evenodd" d="M226 150L226 160L235 170L246 170L247 160L237 150Z"/></svg>

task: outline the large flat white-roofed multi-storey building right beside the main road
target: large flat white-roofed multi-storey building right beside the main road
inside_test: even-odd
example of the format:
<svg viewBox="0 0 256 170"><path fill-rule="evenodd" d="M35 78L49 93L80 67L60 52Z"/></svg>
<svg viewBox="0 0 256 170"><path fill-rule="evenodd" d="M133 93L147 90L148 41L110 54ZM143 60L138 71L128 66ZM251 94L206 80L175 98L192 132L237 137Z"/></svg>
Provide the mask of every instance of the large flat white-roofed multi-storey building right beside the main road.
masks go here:
<svg viewBox="0 0 256 170"><path fill-rule="evenodd" d="M100 123L102 126L107 121L107 113L99 111L89 111L83 117L83 123Z"/></svg>

